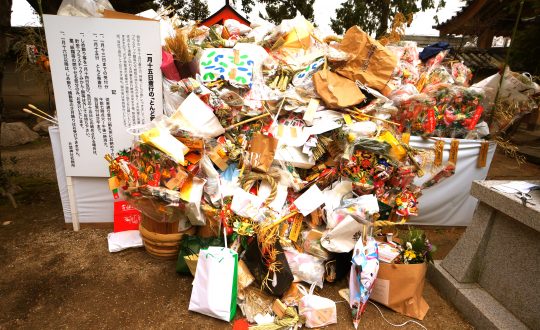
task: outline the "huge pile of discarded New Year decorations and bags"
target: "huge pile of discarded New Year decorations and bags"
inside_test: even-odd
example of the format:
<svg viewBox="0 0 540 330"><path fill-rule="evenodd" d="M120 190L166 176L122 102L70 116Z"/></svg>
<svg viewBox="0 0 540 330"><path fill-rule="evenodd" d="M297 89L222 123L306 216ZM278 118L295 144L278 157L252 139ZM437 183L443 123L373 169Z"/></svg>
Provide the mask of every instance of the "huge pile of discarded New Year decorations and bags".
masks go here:
<svg viewBox="0 0 540 330"><path fill-rule="evenodd" d="M350 274L358 326L379 268L373 237L420 213L423 189L455 170L410 135L489 134L493 82L469 87L448 50L426 51L357 26L322 39L300 16L185 26L166 40L167 116L108 161L143 222L183 234L190 310L231 321L238 304L253 329L320 327L337 322L336 305L315 287Z"/></svg>

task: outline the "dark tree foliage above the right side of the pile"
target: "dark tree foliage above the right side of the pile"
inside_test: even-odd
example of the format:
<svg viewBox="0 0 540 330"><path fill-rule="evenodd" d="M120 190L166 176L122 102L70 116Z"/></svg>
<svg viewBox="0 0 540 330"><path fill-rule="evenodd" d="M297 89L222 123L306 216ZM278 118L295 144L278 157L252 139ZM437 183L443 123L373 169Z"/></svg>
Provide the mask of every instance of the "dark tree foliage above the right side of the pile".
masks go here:
<svg viewBox="0 0 540 330"><path fill-rule="evenodd" d="M343 34L349 27L358 25L380 38L387 32L397 13L409 17L427 9L439 10L445 4L445 0L346 0L336 10L331 27L334 32Z"/></svg>

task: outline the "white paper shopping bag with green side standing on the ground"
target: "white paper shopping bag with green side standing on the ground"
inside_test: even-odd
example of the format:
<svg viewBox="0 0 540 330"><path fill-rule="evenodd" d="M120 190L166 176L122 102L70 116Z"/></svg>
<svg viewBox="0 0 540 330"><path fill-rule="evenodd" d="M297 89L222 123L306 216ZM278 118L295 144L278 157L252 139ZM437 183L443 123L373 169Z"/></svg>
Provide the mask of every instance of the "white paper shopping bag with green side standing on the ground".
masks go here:
<svg viewBox="0 0 540 330"><path fill-rule="evenodd" d="M211 246L199 253L189 310L230 322L236 314L238 254Z"/></svg>

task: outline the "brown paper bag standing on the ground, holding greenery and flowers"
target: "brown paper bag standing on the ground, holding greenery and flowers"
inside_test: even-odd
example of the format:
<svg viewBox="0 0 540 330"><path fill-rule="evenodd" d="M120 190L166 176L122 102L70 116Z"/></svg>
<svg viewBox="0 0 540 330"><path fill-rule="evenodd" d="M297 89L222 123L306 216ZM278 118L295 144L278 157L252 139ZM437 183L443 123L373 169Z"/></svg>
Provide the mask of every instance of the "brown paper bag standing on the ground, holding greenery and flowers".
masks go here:
<svg viewBox="0 0 540 330"><path fill-rule="evenodd" d="M429 305L422 297L427 264L380 263L370 299L409 317L423 320Z"/></svg>

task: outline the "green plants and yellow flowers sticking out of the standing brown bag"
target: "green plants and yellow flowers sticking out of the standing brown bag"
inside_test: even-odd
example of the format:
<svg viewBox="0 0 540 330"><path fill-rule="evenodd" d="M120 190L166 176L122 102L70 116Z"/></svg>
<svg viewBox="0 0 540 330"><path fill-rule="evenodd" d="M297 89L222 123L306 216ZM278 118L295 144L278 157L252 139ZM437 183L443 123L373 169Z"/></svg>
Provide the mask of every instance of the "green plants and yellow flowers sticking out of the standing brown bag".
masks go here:
<svg viewBox="0 0 540 330"><path fill-rule="evenodd" d="M421 229L410 228L399 238L401 239L401 260L404 264L421 264L433 262L432 253L437 248L429 242Z"/></svg>

